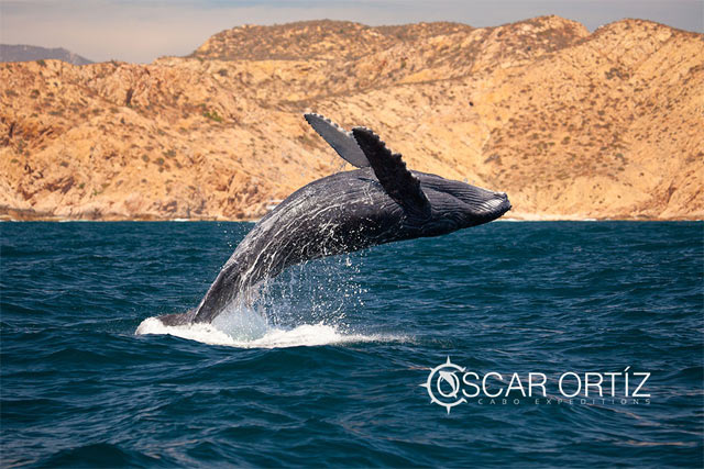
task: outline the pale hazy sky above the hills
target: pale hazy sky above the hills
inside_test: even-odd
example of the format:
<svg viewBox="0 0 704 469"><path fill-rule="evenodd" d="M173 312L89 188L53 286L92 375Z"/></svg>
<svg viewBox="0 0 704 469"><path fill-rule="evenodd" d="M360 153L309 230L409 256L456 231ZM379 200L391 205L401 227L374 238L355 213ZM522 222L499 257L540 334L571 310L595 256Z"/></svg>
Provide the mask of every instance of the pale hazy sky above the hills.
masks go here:
<svg viewBox="0 0 704 469"><path fill-rule="evenodd" d="M91 60L186 55L246 23L331 19L370 25L457 21L494 26L543 14L590 31L623 18L704 32L704 0L0 0L0 43L65 47Z"/></svg>

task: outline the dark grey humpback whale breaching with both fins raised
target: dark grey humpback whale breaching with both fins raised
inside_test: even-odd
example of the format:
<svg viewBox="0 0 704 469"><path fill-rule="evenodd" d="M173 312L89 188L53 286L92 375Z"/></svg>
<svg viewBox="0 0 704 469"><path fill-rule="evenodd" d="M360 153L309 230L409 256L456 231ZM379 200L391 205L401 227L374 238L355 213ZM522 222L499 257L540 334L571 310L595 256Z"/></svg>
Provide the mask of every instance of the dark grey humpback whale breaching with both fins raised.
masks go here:
<svg viewBox="0 0 704 469"><path fill-rule="evenodd" d="M258 282L289 266L366 247L439 236L498 219L506 193L406 168L366 127L345 131L305 114L332 148L358 169L318 179L266 214L238 245L197 308L158 316L165 325L210 323Z"/></svg>

